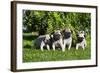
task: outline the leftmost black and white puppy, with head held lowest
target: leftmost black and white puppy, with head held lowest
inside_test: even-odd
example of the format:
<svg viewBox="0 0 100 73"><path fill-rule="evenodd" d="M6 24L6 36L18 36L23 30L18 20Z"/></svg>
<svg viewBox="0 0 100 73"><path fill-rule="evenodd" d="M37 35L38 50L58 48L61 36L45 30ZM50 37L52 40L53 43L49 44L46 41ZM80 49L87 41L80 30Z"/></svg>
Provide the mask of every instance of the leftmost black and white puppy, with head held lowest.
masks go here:
<svg viewBox="0 0 100 73"><path fill-rule="evenodd" d="M41 49L41 51L43 51L43 48L46 47L48 50L50 50L50 35L46 34L46 35L40 35L37 39L36 39L36 46L38 48Z"/></svg>

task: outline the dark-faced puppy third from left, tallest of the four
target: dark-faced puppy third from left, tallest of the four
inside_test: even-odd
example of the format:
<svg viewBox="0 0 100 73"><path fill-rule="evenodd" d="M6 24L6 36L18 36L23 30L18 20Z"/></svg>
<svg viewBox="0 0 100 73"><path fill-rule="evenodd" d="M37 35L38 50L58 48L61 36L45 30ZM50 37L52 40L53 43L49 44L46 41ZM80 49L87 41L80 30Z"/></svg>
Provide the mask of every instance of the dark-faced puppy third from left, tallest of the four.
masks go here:
<svg viewBox="0 0 100 73"><path fill-rule="evenodd" d="M64 48L66 48L66 45L68 46L68 50L70 50L72 45L72 33L70 29L63 30L63 44Z"/></svg>

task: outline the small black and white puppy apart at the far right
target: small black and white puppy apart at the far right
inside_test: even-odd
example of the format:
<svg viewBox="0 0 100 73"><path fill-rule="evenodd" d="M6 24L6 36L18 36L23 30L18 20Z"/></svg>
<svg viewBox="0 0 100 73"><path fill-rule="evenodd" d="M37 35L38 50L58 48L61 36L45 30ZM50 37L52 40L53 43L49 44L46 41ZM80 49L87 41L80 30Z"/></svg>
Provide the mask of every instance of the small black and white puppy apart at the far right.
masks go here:
<svg viewBox="0 0 100 73"><path fill-rule="evenodd" d="M84 50L86 45L85 33L84 31L79 31L77 35L76 50L78 50L79 47L82 47Z"/></svg>

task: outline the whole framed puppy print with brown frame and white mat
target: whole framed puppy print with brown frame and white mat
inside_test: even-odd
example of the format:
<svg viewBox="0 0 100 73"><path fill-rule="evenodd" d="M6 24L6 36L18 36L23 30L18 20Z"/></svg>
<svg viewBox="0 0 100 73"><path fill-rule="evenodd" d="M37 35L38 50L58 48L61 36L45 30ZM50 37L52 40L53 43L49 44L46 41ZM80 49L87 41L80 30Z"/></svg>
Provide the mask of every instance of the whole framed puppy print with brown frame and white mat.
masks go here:
<svg viewBox="0 0 100 73"><path fill-rule="evenodd" d="M97 6L11 2L11 71L97 66Z"/></svg>

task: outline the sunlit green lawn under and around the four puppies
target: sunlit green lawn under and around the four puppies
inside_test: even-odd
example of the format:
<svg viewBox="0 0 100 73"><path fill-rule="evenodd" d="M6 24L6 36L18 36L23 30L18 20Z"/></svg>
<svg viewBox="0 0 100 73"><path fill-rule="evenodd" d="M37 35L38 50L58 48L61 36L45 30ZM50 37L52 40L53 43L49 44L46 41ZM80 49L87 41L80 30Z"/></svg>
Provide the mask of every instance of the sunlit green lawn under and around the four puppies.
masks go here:
<svg viewBox="0 0 100 73"><path fill-rule="evenodd" d="M31 37L31 38L30 38ZM34 45L32 48L32 41L36 39L37 36L28 35L24 36L23 40L23 62L40 62L40 61L64 61L64 60L85 60L91 58L91 48L90 48L90 37L87 37L87 44L85 50L79 48L78 50L75 47L72 47L71 50L66 48L65 52L56 49L48 51L44 49L35 49ZM26 39L27 38L27 39Z"/></svg>

